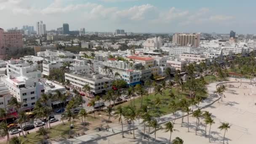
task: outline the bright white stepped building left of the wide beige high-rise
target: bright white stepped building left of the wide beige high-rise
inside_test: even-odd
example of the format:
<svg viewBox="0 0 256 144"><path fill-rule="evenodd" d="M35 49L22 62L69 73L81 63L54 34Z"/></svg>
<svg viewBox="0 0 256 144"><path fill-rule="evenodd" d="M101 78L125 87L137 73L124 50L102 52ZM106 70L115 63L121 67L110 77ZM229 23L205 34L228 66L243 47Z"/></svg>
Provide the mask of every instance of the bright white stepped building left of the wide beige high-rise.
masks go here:
<svg viewBox="0 0 256 144"><path fill-rule="evenodd" d="M162 47L162 39L161 37L149 38L143 43L143 46L148 50L159 49Z"/></svg>

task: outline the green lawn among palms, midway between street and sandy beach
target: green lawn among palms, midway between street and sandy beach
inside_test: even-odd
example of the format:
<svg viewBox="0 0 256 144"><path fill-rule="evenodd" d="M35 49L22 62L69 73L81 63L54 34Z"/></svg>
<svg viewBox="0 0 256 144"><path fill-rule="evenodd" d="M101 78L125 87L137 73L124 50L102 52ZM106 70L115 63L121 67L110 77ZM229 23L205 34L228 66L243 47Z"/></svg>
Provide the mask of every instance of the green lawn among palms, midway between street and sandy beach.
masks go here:
<svg viewBox="0 0 256 144"><path fill-rule="evenodd" d="M143 105L147 105L147 106L149 106L149 107L153 107L153 106L155 106L154 100L155 100L157 97L159 97L160 100L161 100L161 103L160 103L159 106L158 106L158 107L160 108L160 109L159 109L160 115L166 115L166 114L171 113L171 109L168 107L168 104L169 104L169 102L170 102L169 90L170 90L169 88L165 90L165 96L164 96L164 98L163 98L163 96L161 96L160 94L155 95L155 93L150 94L150 95L148 96L148 100L147 100L147 96L143 96ZM182 98L185 98L185 99L187 99L187 101L190 101L190 99L187 98L187 96L189 96L188 91L181 92L181 90L180 90L180 92L179 92L180 94L178 95L178 93L177 93L177 88L172 88L172 92L173 92L173 93L175 94L175 96L176 96L176 99L174 99L174 101L175 101L176 103L179 101L179 99L182 99ZM206 97L206 96L205 96L205 97ZM163 99L164 99L164 107L162 107ZM133 104L133 98L132 98L132 104ZM128 106L128 105L131 105L130 99L129 99L127 102L121 104L122 107L125 107L125 106ZM136 107L137 109L139 109L139 108L140 108L140 105L141 105L140 98L136 98L136 99L135 99L135 107Z"/></svg>

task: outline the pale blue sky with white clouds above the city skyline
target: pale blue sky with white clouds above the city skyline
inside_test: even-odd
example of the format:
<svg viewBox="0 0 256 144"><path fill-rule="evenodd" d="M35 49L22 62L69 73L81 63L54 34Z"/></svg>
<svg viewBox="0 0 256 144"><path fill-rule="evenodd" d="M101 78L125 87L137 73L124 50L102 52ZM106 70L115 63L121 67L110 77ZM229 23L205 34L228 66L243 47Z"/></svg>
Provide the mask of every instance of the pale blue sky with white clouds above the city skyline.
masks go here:
<svg viewBox="0 0 256 144"><path fill-rule="evenodd" d="M256 34L256 0L0 0L0 27Z"/></svg>

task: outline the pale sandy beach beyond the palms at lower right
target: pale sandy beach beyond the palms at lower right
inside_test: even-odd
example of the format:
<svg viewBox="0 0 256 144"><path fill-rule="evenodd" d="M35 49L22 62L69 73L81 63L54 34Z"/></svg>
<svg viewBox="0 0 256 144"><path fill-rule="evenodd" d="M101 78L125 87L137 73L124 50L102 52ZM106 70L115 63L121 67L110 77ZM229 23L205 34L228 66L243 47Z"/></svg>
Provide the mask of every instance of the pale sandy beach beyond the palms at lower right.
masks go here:
<svg viewBox="0 0 256 144"><path fill-rule="evenodd" d="M229 84L228 84L229 85ZM220 122L228 122L231 128L226 133L225 144L256 144L256 93L248 96L251 91L249 85L247 88L231 88L227 85L227 90L224 92L226 98L220 103L216 102L211 107L203 110L209 111L213 114L215 124L211 128L211 142L222 143L224 131L218 129ZM240 83L232 83L235 87ZM253 87L256 91L256 87ZM244 96L245 93L245 96ZM186 127L181 128L181 119L176 120L172 139L179 136L184 140L184 144L207 144L208 137L204 136L205 125L203 119L200 119L199 131L195 135L194 117L189 117L190 131L187 132L187 117L184 118ZM209 127L207 128L208 135ZM165 133L164 130L157 131L157 139L168 140L170 133ZM160 135L160 136L159 136Z"/></svg>

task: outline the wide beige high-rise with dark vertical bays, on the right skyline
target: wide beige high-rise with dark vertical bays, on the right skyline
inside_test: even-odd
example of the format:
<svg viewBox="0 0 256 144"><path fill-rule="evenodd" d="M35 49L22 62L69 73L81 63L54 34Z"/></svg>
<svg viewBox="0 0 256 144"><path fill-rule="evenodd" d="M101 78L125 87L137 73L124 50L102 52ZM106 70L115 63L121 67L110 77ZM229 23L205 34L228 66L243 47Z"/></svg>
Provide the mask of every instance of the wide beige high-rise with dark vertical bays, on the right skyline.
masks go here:
<svg viewBox="0 0 256 144"><path fill-rule="evenodd" d="M180 46L192 46L199 47L200 44L200 33L183 34L175 33L173 35L173 44Z"/></svg>

